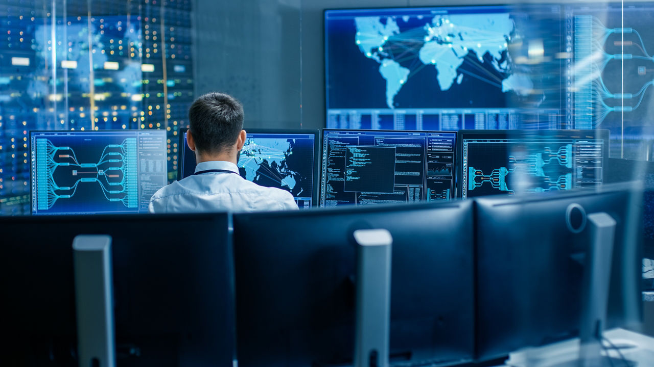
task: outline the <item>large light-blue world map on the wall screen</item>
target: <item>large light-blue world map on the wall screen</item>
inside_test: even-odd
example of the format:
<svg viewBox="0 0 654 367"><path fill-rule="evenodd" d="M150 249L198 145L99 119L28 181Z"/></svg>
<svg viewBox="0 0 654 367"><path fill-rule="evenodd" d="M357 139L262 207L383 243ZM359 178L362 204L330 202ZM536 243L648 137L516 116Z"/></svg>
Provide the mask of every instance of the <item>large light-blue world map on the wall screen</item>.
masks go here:
<svg viewBox="0 0 654 367"><path fill-rule="evenodd" d="M328 108L499 108L506 93L534 89L509 53L509 12L356 16L327 27Z"/></svg>

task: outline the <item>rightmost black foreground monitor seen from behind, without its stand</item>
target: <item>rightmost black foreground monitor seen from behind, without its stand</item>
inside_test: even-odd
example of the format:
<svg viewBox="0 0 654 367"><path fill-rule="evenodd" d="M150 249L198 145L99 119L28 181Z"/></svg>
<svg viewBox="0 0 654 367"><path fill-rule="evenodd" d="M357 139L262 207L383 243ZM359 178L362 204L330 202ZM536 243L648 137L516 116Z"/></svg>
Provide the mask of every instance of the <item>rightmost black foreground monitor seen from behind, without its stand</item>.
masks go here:
<svg viewBox="0 0 654 367"><path fill-rule="evenodd" d="M605 212L617 222L603 327L640 322L641 193L606 185L600 192L475 199L480 360L577 336L590 229L587 225L580 233L570 230L568 223L574 223L566 218L571 204L579 204L586 214Z"/></svg>

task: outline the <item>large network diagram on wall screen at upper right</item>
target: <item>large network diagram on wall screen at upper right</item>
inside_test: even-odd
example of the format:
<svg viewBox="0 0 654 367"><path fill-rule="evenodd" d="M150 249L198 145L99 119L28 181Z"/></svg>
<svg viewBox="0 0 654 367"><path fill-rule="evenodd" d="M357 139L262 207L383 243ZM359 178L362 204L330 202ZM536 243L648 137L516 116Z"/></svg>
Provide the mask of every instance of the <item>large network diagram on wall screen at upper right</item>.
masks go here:
<svg viewBox="0 0 654 367"><path fill-rule="evenodd" d="M654 3L569 5L564 16L565 118L574 129L610 129L611 157L631 158L649 127ZM589 113L591 111L591 113ZM632 153L633 152L633 153ZM631 158L641 159L641 158Z"/></svg>

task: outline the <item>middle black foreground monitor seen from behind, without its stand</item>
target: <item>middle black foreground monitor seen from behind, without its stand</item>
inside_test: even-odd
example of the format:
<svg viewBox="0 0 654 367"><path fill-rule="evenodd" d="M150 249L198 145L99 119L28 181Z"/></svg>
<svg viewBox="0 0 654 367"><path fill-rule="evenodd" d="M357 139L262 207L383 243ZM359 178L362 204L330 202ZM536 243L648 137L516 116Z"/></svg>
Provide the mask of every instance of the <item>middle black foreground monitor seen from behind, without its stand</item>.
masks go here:
<svg viewBox="0 0 654 367"><path fill-rule="evenodd" d="M234 215L239 366L352 364L357 229L392 236L390 361L471 360L470 204Z"/></svg>

